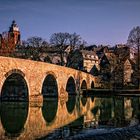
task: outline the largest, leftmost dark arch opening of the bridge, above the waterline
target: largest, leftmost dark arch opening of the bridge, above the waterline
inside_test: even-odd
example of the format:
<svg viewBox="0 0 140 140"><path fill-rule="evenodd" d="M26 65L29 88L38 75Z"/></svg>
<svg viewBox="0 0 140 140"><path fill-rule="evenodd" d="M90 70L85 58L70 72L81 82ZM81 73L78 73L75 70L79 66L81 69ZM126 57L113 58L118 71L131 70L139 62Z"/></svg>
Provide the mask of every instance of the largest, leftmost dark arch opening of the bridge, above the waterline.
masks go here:
<svg viewBox="0 0 140 140"><path fill-rule="evenodd" d="M9 73L9 72L8 72ZM6 80L1 90L2 101L28 101L28 86L21 73L5 75Z"/></svg>

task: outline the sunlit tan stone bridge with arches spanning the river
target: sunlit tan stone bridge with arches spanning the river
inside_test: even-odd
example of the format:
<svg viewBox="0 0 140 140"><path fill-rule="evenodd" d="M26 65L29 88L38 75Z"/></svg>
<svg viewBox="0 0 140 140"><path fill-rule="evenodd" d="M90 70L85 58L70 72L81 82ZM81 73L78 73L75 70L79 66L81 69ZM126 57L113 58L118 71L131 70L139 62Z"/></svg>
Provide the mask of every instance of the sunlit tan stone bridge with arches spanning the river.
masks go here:
<svg viewBox="0 0 140 140"><path fill-rule="evenodd" d="M28 89L29 101L42 101L42 88L48 76L49 79L54 79L59 98L68 97L68 90L72 86L75 86L76 93L84 88L89 89L98 86L98 78L82 71L44 62L0 56L1 93L5 81L12 74L20 75L24 79Z"/></svg>

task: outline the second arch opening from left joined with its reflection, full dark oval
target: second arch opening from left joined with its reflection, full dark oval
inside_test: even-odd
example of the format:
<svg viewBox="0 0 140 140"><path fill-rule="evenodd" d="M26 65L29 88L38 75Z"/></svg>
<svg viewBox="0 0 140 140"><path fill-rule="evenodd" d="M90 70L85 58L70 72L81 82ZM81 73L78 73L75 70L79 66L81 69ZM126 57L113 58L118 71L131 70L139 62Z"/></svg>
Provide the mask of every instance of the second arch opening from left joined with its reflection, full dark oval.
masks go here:
<svg viewBox="0 0 140 140"><path fill-rule="evenodd" d="M42 115L47 123L51 123L56 116L58 108L58 85L53 73L49 73L45 77L42 86L42 95Z"/></svg>

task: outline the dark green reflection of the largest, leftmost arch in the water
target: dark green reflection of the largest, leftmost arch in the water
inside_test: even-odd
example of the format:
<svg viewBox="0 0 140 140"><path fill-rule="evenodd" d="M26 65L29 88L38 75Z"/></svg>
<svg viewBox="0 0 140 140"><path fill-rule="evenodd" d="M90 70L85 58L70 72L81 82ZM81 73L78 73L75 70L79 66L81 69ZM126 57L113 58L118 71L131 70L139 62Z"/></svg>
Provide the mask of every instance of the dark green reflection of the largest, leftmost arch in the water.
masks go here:
<svg viewBox="0 0 140 140"><path fill-rule="evenodd" d="M28 115L28 104L17 102L1 103L1 123L5 129L5 136L17 137L24 131L24 124Z"/></svg>

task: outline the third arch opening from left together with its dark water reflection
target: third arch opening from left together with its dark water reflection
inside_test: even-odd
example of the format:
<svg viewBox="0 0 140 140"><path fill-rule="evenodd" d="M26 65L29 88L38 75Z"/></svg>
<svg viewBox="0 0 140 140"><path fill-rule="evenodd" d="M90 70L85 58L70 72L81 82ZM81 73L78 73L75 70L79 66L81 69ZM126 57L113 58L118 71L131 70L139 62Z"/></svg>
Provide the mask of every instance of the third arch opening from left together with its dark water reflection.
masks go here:
<svg viewBox="0 0 140 140"><path fill-rule="evenodd" d="M70 77L66 84L66 91L68 92L68 101L66 102L66 107L69 113L72 113L76 103L76 86L73 77ZM71 96L74 95L74 96Z"/></svg>

